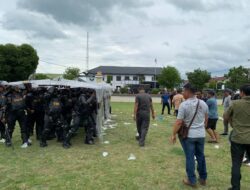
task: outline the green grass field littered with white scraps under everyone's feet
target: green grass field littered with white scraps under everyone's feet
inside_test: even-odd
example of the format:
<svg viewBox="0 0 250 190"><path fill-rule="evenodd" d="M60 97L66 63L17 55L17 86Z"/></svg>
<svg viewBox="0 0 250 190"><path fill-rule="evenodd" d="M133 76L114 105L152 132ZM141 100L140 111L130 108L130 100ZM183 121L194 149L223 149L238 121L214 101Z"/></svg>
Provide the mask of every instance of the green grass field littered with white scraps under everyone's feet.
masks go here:
<svg viewBox="0 0 250 190"><path fill-rule="evenodd" d="M146 147L139 148L134 138L133 104L113 103L112 106L116 115L113 120L118 126L106 130L103 139L110 144L84 145L81 130L69 150L55 141L49 141L48 148L41 149L34 139L29 149L22 150L19 130L16 130L15 150L0 146L0 189L189 189L181 183L185 169L180 144L173 146L168 141L174 117L152 121ZM159 114L160 104L155 108ZM218 131L222 131L221 121ZM107 157L102 156L104 151L109 153ZM131 153L136 160L128 161ZM206 159L208 186L199 189L226 190L230 186L231 167L228 140L221 139L220 149L207 144ZM242 189L249 190L250 168L243 167L242 174Z"/></svg>

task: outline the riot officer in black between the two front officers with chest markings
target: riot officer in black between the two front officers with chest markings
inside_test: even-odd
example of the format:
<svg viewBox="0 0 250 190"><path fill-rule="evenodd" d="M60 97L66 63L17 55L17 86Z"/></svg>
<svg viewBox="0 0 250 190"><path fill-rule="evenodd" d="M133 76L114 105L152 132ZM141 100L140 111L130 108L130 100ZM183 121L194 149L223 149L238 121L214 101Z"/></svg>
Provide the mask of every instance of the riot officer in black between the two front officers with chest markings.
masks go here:
<svg viewBox="0 0 250 190"><path fill-rule="evenodd" d="M27 130L33 135L36 126L36 138L40 140L44 126L44 96L41 88L33 89L26 96Z"/></svg>

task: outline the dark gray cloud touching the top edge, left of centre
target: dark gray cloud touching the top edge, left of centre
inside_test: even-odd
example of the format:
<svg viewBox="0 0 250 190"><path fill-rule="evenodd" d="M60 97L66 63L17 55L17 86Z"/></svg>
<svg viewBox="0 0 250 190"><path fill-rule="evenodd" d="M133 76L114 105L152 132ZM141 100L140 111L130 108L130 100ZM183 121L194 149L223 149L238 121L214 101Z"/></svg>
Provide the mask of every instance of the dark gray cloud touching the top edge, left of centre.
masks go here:
<svg viewBox="0 0 250 190"><path fill-rule="evenodd" d="M111 21L115 8L128 11L148 5L148 1L142 0L22 0L18 3L19 8L51 15L61 23L95 27Z"/></svg>

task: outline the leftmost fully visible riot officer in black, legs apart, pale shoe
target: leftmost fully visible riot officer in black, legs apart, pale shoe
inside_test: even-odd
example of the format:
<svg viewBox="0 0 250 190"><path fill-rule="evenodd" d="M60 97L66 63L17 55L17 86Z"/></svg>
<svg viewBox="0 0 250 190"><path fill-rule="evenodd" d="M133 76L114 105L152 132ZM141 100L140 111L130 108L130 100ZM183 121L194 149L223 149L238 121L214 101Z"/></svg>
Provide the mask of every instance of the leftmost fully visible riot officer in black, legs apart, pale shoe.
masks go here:
<svg viewBox="0 0 250 190"><path fill-rule="evenodd" d="M14 128L16 125L16 121L18 121L20 129L21 129L21 138L23 143L30 144L28 142L27 128L26 128L26 106L25 106L25 98L23 94L20 92L18 87L14 87L11 89L11 92L7 95L7 124L8 124L8 132L10 138L12 138L12 134L14 132ZM6 145L11 145L11 139L6 138Z"/></svg>

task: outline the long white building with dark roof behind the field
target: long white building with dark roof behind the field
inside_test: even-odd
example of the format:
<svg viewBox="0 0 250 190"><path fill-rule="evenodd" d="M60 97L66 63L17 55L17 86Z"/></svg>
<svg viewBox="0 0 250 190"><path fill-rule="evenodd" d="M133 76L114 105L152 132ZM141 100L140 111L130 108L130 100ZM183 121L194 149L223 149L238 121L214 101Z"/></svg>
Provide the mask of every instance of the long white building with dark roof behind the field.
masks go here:
<svg viewBox="0 0 250 190"><path fill-rule="evenodd" d="M103 81L110 83L113 89L118 89L131 84L155 83L155 76L161 71L160 67L100 66L89 70L89 74L96 75L101 72Z"/></svg>

